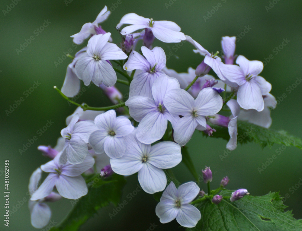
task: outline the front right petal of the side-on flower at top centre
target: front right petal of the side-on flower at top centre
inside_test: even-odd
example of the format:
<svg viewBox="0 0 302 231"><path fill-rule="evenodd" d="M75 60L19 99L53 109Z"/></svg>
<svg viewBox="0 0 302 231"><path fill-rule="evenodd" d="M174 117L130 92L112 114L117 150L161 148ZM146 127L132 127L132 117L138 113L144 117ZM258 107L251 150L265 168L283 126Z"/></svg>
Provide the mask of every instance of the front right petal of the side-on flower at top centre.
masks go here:
<svg viewBox="0 0 302 231"><path fill-rule="evenodd" d="M153 35L164 43L179 43L186 40L185 34L179 31L171 30L166 25L155 21L152 27Z"/></svg>

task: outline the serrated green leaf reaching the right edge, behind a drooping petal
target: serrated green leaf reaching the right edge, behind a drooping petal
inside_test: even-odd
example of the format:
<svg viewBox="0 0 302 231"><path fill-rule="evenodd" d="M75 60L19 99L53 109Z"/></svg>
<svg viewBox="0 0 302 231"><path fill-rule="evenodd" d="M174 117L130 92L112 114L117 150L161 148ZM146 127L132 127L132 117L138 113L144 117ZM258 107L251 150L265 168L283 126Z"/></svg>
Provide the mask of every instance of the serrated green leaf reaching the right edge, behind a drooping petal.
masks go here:
<svg viewBox="0 0 302 231"><path fill-rule="evenodd" d="M216 129L212 137L223 138L227 141L230 139L227 128L217 125L211 125L211 127ZM203 134L208 137L207 134ZM238 121L237 142L241 144L255 142L260 144L262 148L265 146L272 147L274 144L284 144L302 149L302 140L300 138L294 137L285 131L274 131L245 121Z"/></svg>

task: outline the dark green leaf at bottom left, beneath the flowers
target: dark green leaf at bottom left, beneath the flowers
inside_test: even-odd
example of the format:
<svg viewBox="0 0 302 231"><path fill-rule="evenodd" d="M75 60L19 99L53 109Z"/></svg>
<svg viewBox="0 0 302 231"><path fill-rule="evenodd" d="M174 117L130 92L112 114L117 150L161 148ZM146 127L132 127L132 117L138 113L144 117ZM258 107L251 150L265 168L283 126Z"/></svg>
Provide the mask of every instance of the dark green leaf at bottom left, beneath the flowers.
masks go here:
<svg viewBox="0 0 302 231"><path fill-rule="evenodd" d="M124 176L117 174L108 177L106 181L95 177L88 183L87 195L80 198L78 202L76 202L77 200L71 201L73 209L63 222L50 231L76 231L100 208L109 205L110 202L117 206L125 183Z"/></svg>

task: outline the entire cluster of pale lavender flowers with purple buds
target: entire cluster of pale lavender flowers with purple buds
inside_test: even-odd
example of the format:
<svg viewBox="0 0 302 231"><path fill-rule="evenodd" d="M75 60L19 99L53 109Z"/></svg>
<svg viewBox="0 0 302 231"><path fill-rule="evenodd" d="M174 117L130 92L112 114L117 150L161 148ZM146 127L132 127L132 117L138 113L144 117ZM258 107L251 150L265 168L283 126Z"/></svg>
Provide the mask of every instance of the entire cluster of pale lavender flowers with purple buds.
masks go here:
<svg viewBox="0 0 302 231"><path fill-rule="evenodd" d="M218 52L210 53L182 33L174 22L154 21L135 13L126 14L117 24L122 42L115 44L111 33L99 25L109 15L105 7L94 22L84 24L79 33L71 36L77 44L89 40L68 65L60 93L73 97L79 92L81 80L86 86L92 82L115 105L101 110L74 103L79 107L67 117L58 145L39 147L52 160L31 177L30 188L37 186L41 170L49 173L37 190L30 189L32 224L40 228L50 219L50 209L42 202L86 195L86 176L138 173L145 192L165 190L156 207L162 223L176 218L182 226L194 227L201 214L189 203L204 192L193 182L178 189L173 182L166 187L163 169L171 169L182 161L181 147L190 141L195 130L215 135L211 126L228 128L230 141L226 147L234 150L237 120L263 127L271 125L269 108L275 108L276 100L269 93L271 84L259 76L263 63L235 55L235 37L222 38L224 54L219 57ZM122 28L124 24L130 25ZM178 73L166 67L165 51L153 47L155 39L164 43L186 40L204 58L195 69ZM143 46L137 48L140 40ZM211 69L218 78L208 74ZM116 72L126 80L118 79ZM116 82L129 86L126 102ZM203 174L204 182L212 181L209 168ZM221 187L228 181L224 178ZM235 192L231 201L246 194L247 191ZM218 204L222 197L217 195L211 200Z"/></svg>

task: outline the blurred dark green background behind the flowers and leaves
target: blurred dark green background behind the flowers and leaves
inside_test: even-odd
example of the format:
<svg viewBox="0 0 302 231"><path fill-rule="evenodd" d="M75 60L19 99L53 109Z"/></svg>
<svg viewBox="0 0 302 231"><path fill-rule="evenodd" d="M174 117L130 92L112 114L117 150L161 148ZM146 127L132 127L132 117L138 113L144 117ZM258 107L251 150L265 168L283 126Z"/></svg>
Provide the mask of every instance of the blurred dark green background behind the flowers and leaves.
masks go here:
<svg viewBox="0 0 302 231"><path fill-rule="evenodd" d="M211 17L207 16L207 11L212 10L213 13L218 3L221 3L222 7L217 11L214 10L215 13ZM182 28L182 32L190 35L210 52L221 50L222 36L241 34L236 44L236 54L262 62L271 55L273 59L265 65L261 75L271 82L271 93L275 97L282 97L283 94L285 94L283 97L286 96L271 113L273 119L271 128L284 129L302 137L302 84L296 85L291 92L287 89L302 75L302 3L300 0L274 0L272 3L263 0L121 0L120 4L115 0L41 0L17 2L17 5L13 4L14 8L5 13L7 5L11 4L13 4L11 0L3 0L0 4L2 10L0 16L2 81L0 169L4 169L4 160L8 159L11 210L22 198L28 199L26 193L31 173L48 161L37 150L37 146L42 144L54 146L60 136L60 130L66 126L66 117L76 108L69 106L53 89L54 85L58 87L63 85L66 67L71 60L67 58L57 67L54 62L58 62L59 57L64 55L63 52L68 52L70 48L71 54L74 55L82 47L78 46L75 49L69 36L79 32L84 23L94 21L104 5L111 7L112 14L102 27L112 33L115 43L120 42L120 36L114 27L124 14L130 12L152 17L154 20L174 21ZM203 16L209 19L205 21ZM48 20L50 24L41 33L37 33L35 30L43 25L44 20ZM251 28L247 33L244 32L246 27ZM34 40L22 52L17 52L20 43L23 44L31 36L34 36ZM274 49L283 42L283 39L288 39L290 42L276 54ZM166 54L172 51L173 55L167 60L167 67L179 72L186 71L189 66L196 68L201 62L201 56L192 52L193 46L189 43L184 43L177 51L173 49L175 44L157 41L155 45L162 46ZM24 91L30 89L34 81L40 85L26 97ZM122 87L119 84L117 86ZM123 93L127 92L124 87L121 89ZM24 97L25 100L7 115L5 110L9 110L14 101L19 100L20 97ZM90 106L110 104L96 86L91 86L76 102L85 102ZM52 120L54 124L41 136L37 136L37 130L45 126L47 120ZM18 150L35 135L38 137L37 141L20 155ZM278 155L276 150L281 145L262 150L258 144L251 143L239 145L236 150L221 160L219 155L223 155L226 150L226 141L204 138L199 133L194 134L188 146L199 174L205 165L211 167L213 188L218 187L220 180L227 175L230 178L228 185L230 189L247 188L251 195L264 195L268 191L280 191L283 196L288 193L290 196L285 202L288 210L293 210L295 218L302 218L302 187L298 188L300 187L298 184L295 188L299 178L302 177L301 150L287 147ZM277 155L277 159L260 174L258 168L273 154ZM175 167L175 174L182 183L194 180L182 163ZM0 178L3 185L4 174L1 174ZM124 199L137 188L137 184L137 176L128 177L128 184L124 188ZM206 185L202 182L200 187L206 188ZM291 187L295 190L290 191ZM51 220L54 222L60 222L72 208L68 199L49 205L53 213ZM0 207L3 218L2 193ZM101 210L82 226L81 230L148 230L151 224L156 225L156 230L182 230L178 228L179 225L175 220L169 224L161 224L155 215L155 207L156 201L153 196L140 191L112 219L109 218L108 213L112 213L113 205ZM30 223L27 202L11 215L9 228L3 228L4 219L1 220L1 230L36 230Z"/></svg>

